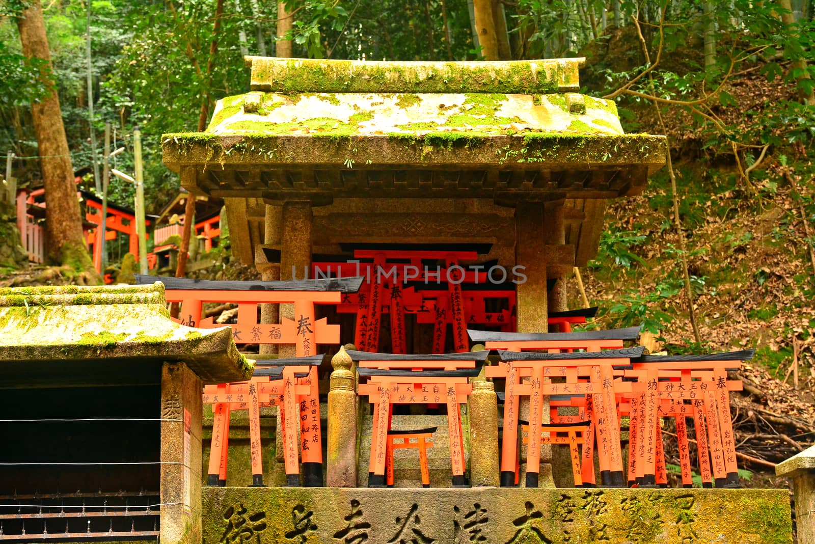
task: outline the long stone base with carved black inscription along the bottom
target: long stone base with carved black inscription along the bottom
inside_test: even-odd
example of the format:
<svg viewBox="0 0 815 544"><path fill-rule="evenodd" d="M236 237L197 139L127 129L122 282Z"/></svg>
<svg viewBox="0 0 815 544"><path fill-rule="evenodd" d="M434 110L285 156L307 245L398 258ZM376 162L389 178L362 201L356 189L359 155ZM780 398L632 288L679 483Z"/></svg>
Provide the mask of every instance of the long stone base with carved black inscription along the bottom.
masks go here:
<svg viewBox="0 0 815 544"><path fill-rule="evenodd" d="M792 542L786 489L218 488L205 544Z"/></svg>

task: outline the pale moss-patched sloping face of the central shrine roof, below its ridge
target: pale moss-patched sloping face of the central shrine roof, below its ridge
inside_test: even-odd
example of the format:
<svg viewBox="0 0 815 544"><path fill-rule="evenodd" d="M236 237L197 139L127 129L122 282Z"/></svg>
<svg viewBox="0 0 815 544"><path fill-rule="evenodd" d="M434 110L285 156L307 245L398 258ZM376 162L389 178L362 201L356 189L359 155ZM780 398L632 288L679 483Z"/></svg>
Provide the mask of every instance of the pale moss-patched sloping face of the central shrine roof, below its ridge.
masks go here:
<svg viewBox="0 0 815 544"><path fill-rule="evenodd" d="M258 96L259 95L259 96ZM257 111L243 107L260 99ZM390 134L470 130L492 134L562 132L623 134L611 101L586 99L570 113L561 94L504 93L249 93L218 101L210 134ZM561 105L563 102L563 106ZM249 111L247 111L249 109ZM578 125L574 121L579 121ZM599 122L598 122L599 121ZM579 126L580 129L575 129Z"/></svg>

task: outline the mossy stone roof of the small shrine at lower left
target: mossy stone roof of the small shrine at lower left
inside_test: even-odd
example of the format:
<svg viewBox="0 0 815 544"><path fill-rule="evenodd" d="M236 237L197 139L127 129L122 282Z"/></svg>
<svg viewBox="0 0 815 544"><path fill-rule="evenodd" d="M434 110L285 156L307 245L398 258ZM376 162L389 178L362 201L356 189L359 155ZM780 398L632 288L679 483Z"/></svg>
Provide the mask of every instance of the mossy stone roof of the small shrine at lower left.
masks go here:
<svg viewBox="0 0 815 544"><path fill-rule="evenodd" d="M249 379L253 364L229 327L184 327L165 305L161 283L0 288L0 372L28 379L37 363L59 362L50 368L68 375L102 360L109 371L102 379L115 381L147 362L182 361L207 384Z"/></svg>

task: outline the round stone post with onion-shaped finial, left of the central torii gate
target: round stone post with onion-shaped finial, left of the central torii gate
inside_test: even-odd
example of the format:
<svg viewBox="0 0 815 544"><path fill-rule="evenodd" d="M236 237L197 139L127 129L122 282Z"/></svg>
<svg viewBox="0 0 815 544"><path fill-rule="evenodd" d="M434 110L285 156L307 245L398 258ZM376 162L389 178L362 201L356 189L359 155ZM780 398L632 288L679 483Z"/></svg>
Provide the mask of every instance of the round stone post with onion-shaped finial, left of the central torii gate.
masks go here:
<svg viewBox="0 0 815 544"><path fill-rule="evenodd" d="M334 371L328 390L328 487L357 485L357 379L353 365L344 347L331 359Z"/></svg>

